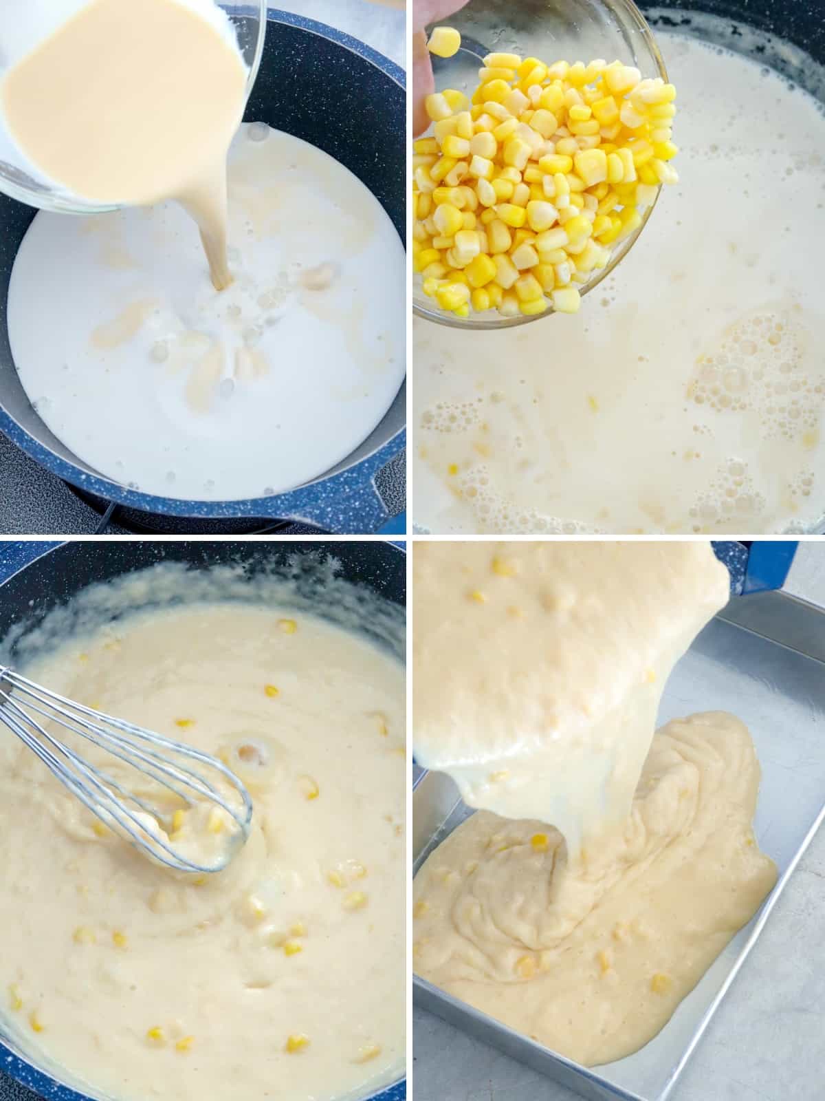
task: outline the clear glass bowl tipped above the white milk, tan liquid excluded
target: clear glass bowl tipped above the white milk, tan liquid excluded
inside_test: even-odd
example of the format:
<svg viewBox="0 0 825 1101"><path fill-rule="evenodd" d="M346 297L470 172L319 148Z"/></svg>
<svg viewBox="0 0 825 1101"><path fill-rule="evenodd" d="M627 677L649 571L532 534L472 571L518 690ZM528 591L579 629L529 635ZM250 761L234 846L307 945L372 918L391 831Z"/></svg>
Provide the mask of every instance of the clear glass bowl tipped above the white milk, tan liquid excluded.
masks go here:
<svg viewBox="0 0 825 1101"><path fill-rule="evenodd" d="M62 8L66 14L66 4ZM72 8L80 8L80 3L68 4ZM244 105L250 97L252 87L257 77L261 55L264 48L264 37L266 35L266 0L253 0L251 3L217 3L222 8L233 24L238 36L238 45L241 55L249 68L246 79L246 92ZM11 32L9 29L0 28L0 58L12 57L19 59L29 50L32 50L37 41L43 39L42 32L32 34L33 29L20 25ZM8 63L0 59L0 79L2 79ZM34 178L30 173L24 159L16 149L11 135L4 127L2 116L0 116L0 192L4 192L13 199L25 203L28 206L38 207L41 210L53 210L57 214L106 214L117 210L117 205L100 205L87 203L69 192L50 185L43 178Z"/></svg>

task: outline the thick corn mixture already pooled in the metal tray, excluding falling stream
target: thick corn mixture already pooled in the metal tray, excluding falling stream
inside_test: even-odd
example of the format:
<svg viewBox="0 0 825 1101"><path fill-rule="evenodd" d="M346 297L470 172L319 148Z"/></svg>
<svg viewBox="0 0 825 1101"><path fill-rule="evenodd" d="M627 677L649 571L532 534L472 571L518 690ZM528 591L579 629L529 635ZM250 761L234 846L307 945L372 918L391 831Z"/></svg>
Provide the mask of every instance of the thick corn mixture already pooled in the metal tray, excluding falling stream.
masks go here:
<svg viewBox="0 0 825 1101"><path fill-rule="evenodd" d="M585 1066L630 1055L776 882L758 786L746 727L707 712L657 733L624 829L575 871L557 830L477 811L415 879L417 973Z"/></svg>

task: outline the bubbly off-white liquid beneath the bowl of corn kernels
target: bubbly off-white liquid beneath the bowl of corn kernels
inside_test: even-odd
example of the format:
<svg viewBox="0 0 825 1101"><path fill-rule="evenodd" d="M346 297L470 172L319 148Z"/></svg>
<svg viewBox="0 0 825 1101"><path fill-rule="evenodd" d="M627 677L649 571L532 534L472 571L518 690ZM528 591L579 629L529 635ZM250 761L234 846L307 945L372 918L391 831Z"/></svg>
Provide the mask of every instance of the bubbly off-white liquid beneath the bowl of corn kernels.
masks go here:
<svg viewBox="0 0 825 1101"><path fill-rule="evenodd" d="M415 323L414 519L430 531L822 519L822 106L743 56L658 41L679 88L681 184L615 276L573 317L502 333Z"/></svg>

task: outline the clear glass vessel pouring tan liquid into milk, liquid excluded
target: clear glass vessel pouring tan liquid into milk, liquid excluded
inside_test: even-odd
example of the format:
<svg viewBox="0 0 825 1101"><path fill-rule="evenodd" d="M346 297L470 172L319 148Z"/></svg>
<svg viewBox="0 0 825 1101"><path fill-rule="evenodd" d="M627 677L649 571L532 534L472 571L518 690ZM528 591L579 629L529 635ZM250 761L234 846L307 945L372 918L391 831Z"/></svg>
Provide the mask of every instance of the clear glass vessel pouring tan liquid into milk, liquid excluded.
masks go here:
<svg viewBox="0 0 825 1101"><path fill-rule="evenodd" d="M186 3L186 0L183 0ZM12 65L33 50L67 19L86 7L88 0L14 0L0 20L0 79ZM187 4L188 6L188 4ZM229 17L238 46L249 68L245 99L257 77L266 35L266 0L251 3L216 3ZM13 17L13 18L8 18ZM61 188L41 174L14 143L0 112L0 192L42 210L59 214L105 214L116 205L89 203Z"/></svg>

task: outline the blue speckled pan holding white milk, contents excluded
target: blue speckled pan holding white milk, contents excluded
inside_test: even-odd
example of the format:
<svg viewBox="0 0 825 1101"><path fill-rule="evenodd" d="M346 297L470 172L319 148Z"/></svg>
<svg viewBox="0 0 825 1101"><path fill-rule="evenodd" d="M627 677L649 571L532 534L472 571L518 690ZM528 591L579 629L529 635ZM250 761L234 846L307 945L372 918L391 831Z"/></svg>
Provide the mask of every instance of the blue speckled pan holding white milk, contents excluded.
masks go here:
<svg viewBox="0 0 825 1101"><path fill-rule="evenodd" d="M341 31L270 10L245 119L296 134L344 164L382 203L405 239L406 95L397 65ZM200 520L280 517L346 534L382 527L389 517L374 478L405 446L406 386L381 424L342 462L322 478L274 497L183 501L140 493L101 477L64 447L32 408L9 347L9 280L34 214L0 195L0 432L58 478L141 512ZM127 410L123 415L128 417Z"/></svg>

